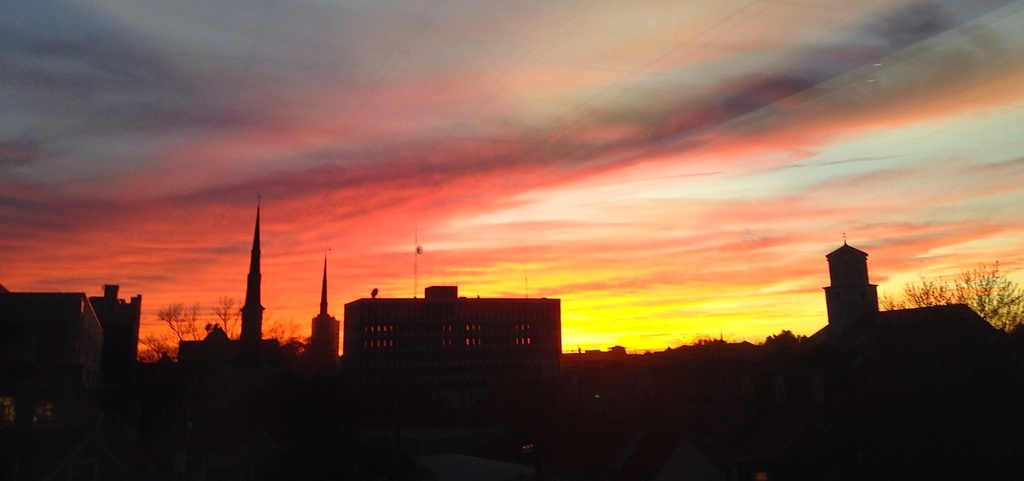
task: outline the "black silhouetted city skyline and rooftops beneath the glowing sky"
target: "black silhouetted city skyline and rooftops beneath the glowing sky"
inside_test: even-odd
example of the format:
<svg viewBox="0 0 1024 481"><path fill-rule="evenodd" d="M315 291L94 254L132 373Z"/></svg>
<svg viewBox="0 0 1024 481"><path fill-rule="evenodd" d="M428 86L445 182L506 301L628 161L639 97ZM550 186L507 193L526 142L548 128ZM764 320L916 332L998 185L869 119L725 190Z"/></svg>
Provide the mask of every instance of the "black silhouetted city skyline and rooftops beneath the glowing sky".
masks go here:
<svg viewBox="0 0 1024 481"><path fill-rule="evenodd" d="M430 287L346 304L340 365L209 326L177 361L135 362L140 296L0 290L0 473L1014 479L1024 330L966 305L880 311L868 254L825 257L828 324L813 336L644 355L560 354L557 299Z"/></svg>

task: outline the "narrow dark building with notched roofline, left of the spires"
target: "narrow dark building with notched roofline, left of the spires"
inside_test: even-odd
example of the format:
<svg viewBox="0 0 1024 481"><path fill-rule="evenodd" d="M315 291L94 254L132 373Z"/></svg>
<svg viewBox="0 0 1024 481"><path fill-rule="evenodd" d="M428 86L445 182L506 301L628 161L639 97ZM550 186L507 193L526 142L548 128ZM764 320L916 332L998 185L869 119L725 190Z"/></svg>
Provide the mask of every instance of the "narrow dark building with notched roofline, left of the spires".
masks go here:
<svg viewBox="0 0 1024 481"><path fill-rule="evenodd" d="M138 357L142 296L126 302L118 299L118 285L103 286L103 295L90 297L89 302L103 327L103 382L125 384L131 381Z"/></svg>

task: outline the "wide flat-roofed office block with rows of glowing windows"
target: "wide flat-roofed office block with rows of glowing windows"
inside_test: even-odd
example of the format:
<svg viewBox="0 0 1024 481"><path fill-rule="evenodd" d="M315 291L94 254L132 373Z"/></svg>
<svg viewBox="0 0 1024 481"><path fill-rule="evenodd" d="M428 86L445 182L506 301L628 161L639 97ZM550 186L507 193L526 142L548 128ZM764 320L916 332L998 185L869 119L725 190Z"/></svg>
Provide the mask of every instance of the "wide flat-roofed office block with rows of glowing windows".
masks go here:
<svg viewBox="0 0 1024 481"><path fill-rule="evenodd" d="M430 287L423 299L345 305L344 368L364 386L466 387L559 374L558 299L467 299Z"/></svg>

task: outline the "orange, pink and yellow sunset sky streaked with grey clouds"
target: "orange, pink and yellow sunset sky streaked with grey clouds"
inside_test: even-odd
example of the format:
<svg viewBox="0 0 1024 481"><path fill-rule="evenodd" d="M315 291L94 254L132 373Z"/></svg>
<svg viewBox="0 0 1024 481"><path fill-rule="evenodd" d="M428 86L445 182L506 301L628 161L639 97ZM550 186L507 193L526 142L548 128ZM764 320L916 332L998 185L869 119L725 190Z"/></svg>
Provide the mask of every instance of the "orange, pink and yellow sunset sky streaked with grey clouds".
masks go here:
<svg viewBox="0 0 1024 481"><path fill-rule="evenodd" d="M896 294L1024 282L1024 2L0 3L0 283L330 311L562 300L563 349L825 324L824 255ZM417 245L424 253L415 255ZM330 251L328 251L330 250ZM418 262L418 280L414 279Z"/></svg>

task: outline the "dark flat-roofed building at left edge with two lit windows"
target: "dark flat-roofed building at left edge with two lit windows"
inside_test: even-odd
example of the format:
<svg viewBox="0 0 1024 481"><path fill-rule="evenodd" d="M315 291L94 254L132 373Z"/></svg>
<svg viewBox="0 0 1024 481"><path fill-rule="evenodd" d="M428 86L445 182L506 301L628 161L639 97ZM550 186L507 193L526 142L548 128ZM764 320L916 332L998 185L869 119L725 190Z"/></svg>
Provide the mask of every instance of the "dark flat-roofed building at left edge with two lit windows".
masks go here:
<svg viewBox="0 0 1024 481"><path fill-rule="evenodd" d="M0 293L0 431L88 429L103 330L82 293Z"/></svg>

